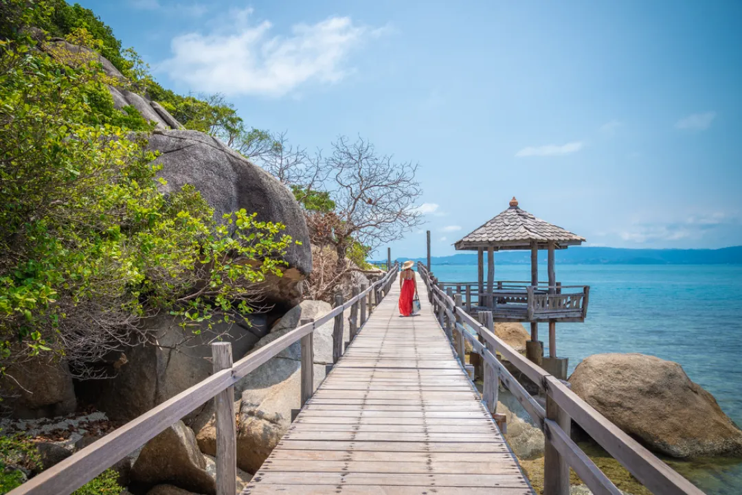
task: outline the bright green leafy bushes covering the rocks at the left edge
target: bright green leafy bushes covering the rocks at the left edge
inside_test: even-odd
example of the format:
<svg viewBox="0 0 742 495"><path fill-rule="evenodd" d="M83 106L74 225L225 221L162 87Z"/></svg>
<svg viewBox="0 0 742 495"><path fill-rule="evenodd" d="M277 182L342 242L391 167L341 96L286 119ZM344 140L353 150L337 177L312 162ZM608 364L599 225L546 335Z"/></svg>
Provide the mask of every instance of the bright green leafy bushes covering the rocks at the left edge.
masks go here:
<svg viewBox="0 0 742 495"><path fill-rule="evenodd" d="M85 30L70 41L100 47ZM190 186L163 196L145 134L129 132L151 127L113 108L96 60L3 45L0 371L50 351L93 362L147 340L137 321L161 310L196 333L244 319L252 285L285 265L283 225L244 210L217 225Z"/></svg>

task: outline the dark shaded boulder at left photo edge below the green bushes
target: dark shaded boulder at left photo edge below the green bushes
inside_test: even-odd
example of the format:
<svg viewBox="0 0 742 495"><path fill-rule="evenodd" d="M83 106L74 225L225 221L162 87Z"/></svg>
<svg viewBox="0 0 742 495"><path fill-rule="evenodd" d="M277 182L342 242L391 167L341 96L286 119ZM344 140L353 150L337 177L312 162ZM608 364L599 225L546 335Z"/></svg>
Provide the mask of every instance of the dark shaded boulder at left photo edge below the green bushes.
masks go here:
<svg viewBox="0 0 742 495"><path fill-rule="evenodd" d="M0 378L0 407L22 419L64 416L77 400L67 363L37 357L11 365Z"/></svg>

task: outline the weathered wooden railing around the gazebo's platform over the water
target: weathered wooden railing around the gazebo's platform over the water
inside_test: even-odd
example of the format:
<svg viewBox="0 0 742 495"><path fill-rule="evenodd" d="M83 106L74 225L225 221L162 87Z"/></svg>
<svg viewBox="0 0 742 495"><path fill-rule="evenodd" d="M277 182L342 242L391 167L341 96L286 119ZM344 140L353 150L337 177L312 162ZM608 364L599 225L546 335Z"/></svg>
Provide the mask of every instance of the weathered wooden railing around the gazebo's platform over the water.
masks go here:
<svg viewBox="0 0 742 495"><path fill-rule="evenodd" d="M589 285L548 285L548 282L497 280L493 287L479 282L438 282L441 290L462 295L462 305L469 312L493 310L495 319L584 319L588 312Z"/></svg>

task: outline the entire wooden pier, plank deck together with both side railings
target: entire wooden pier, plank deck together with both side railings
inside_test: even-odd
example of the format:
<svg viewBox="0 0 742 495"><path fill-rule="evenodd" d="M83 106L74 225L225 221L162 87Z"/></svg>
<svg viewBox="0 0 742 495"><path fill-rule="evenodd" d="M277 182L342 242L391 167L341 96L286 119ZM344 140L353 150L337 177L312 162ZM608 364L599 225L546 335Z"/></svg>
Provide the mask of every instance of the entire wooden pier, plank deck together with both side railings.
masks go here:
<svg viewBox="0 0 742 495"><path fill-rule="evenodd" d="M347 302L232 363L214 344L214 373L15 488L10 495L70 495L204 402L216 411L216 495L236 493L234 392L237 381L301 342L301 411L242 494L531 495L533 490L491 413L508 388L544 432L544 495L568 495L572 468L596 495L621 491L570 437L572 422L657 495L703 495L609 422L565 384L493 333L462 296L443 290L421 263L419 316L397 311L398 265ZM386 297L385 297L386 296ZM344 311L350 345L344 346ZM312 336L335 321L332 371L315 391ZM464 341L485 365L482 397L467 378ZM344 348L347 352L343 353ZM501 359L538 385L525 390ZM480 399L482 402L480 402Z"/></svg>

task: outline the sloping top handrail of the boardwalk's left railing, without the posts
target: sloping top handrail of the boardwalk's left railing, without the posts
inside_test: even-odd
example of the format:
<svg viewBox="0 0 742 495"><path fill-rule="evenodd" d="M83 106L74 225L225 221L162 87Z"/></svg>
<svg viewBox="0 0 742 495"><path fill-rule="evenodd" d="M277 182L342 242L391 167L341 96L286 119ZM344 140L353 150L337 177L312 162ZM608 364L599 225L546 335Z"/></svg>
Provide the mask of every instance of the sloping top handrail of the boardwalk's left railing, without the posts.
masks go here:
<svg viewBox="0 0 742 495"><path fill-rule="evenodd" d="M137 416L116 431L96 440L96 442L91 443L91 445L62 462L29 479L23 485L10 491L8 495L72 494L73 491L110 468L119 459L136 451L150 439L165 431L180 418L203 405L204 402L213 399L218 393L232 387L260 365L288 348L289 345L300 341L304 336L312 334L321 325L338 317L338 315L342 315L344 310L351 308L352 305L368 296L372 291L378 293L378 290L383 288L388 292L398 268L398 263L395 263L392 269L381 279L372 283L366 290L363 290L358 296L352 297L343 305L332 309L332 311L314 321L298 326L268 345L249 353L235 362L232 368L226 368L212 374L209 378L185 389L185 391L162 402L162 404L141 416ZM311 375L312 370L310 369L308 373ZM218 428L219 424L217 422L217 430ZM217 464L219 462L220 459L217 456ZM232 471L234 471L234 468L232 468ZM218 481L217 479L217 483Z"/></svg>

